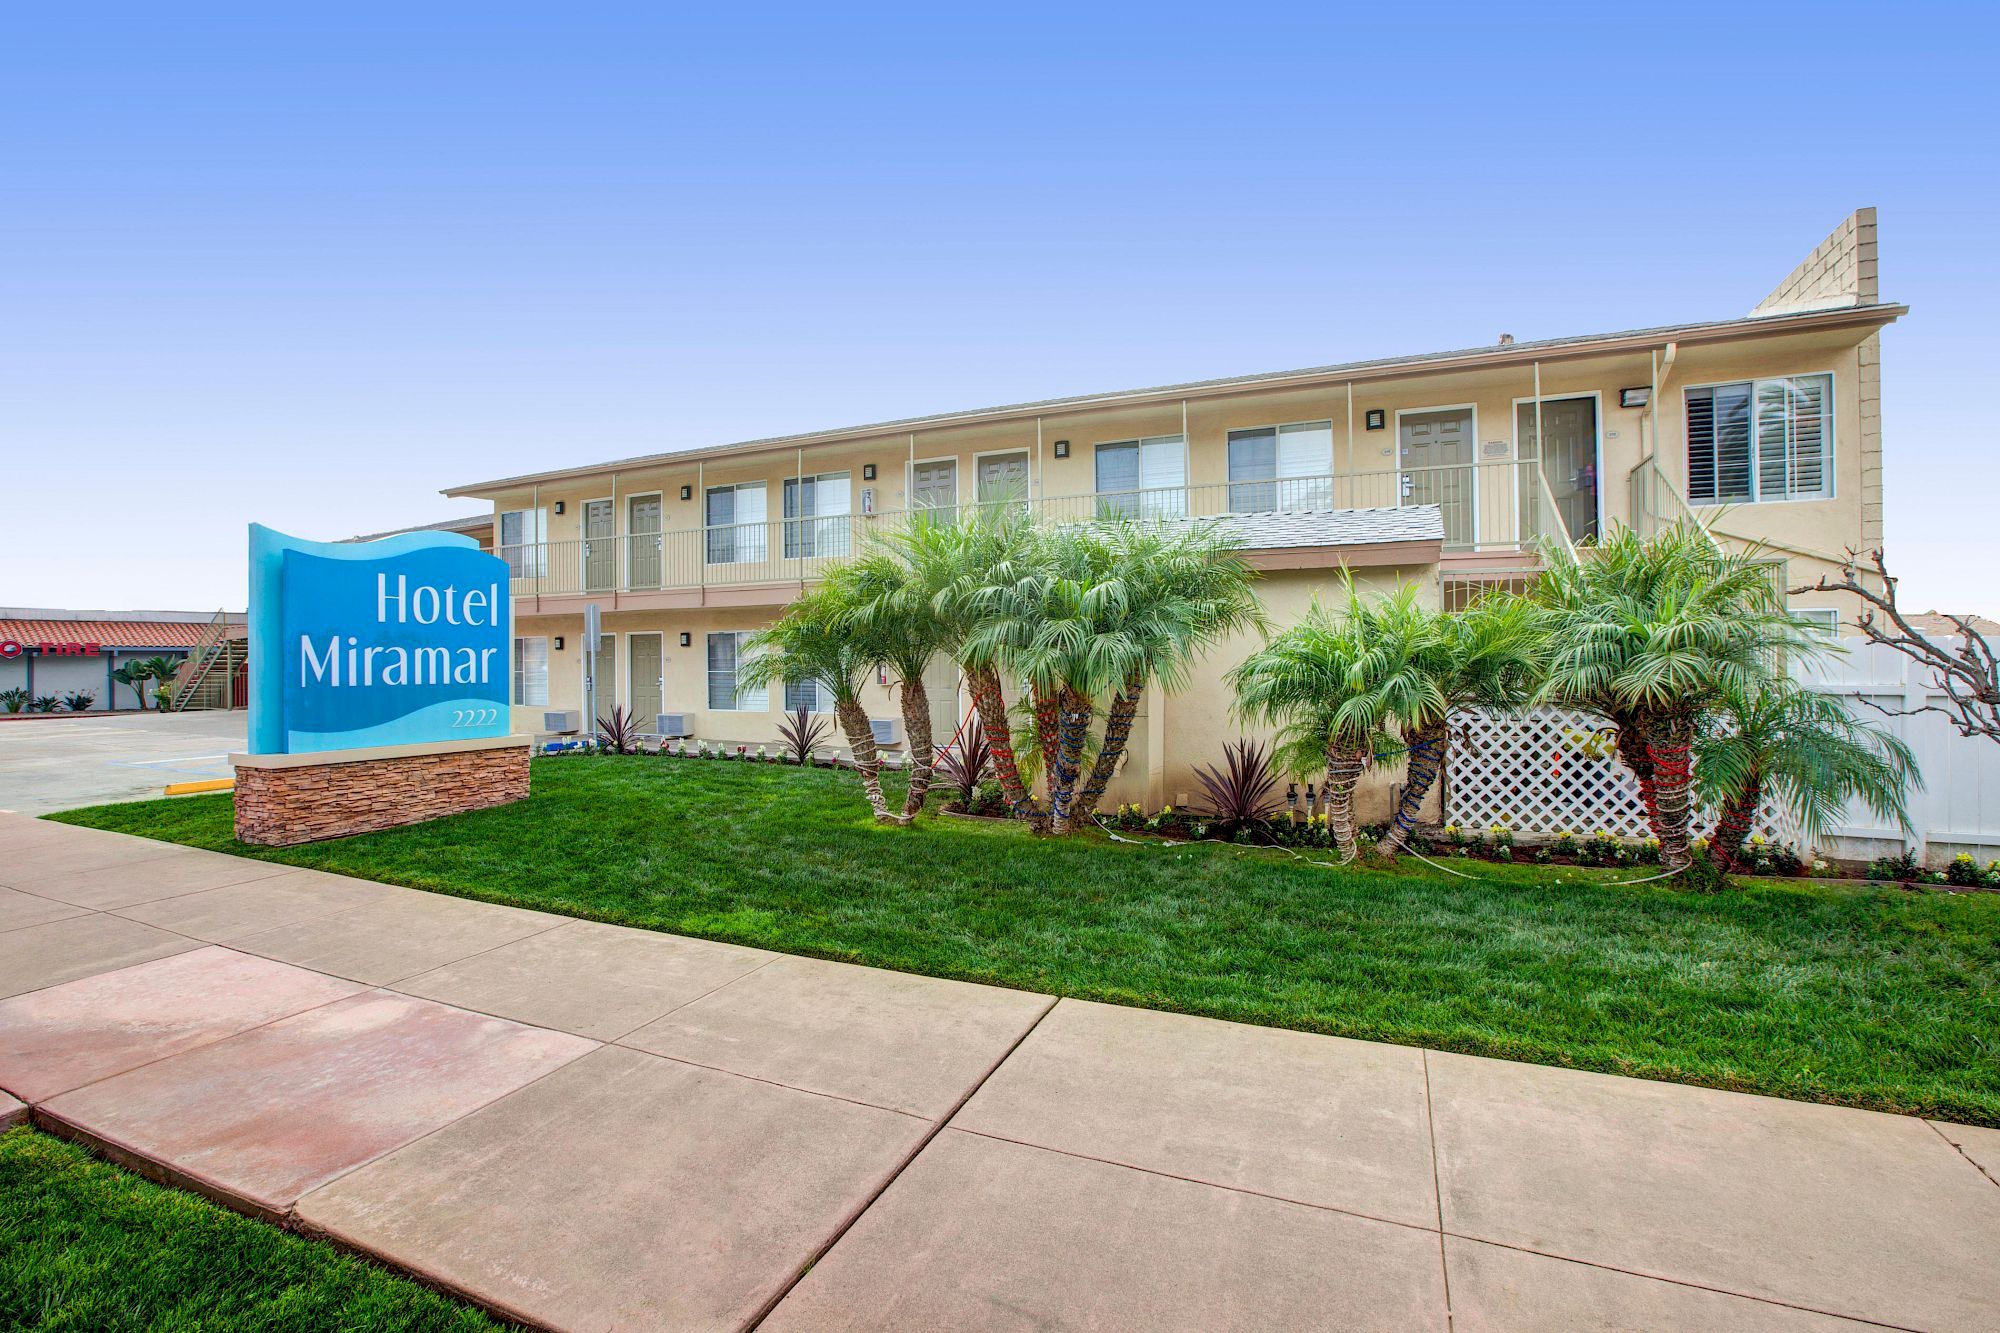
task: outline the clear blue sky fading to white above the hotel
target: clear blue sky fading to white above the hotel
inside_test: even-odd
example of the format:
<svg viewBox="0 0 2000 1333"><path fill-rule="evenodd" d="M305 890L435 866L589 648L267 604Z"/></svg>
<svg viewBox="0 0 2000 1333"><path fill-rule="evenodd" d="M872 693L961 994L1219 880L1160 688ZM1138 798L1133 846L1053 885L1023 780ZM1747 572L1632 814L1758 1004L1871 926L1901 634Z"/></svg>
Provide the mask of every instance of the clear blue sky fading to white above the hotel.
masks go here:
<svg viewBox="0 0 2000 1333"><path fill-rule="evenodd" d="M0 604L244 524L928 410L1746 312L1882 210L1888 542L2000 612L2000 30L1880 6L38 6Z"/></svg>

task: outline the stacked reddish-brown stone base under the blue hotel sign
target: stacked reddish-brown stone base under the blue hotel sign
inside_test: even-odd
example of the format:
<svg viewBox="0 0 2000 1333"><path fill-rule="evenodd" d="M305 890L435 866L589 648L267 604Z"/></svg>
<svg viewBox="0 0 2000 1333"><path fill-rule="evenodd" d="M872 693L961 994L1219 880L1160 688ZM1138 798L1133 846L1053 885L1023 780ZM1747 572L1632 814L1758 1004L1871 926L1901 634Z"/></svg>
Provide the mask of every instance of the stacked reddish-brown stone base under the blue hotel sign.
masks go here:
<svg viewBox="0 0 2000 1333"><path fill-rule="evenodd" d="M230 755L236 837L258 847L344 839L528 797L528 737L316 755Z"/></svg>

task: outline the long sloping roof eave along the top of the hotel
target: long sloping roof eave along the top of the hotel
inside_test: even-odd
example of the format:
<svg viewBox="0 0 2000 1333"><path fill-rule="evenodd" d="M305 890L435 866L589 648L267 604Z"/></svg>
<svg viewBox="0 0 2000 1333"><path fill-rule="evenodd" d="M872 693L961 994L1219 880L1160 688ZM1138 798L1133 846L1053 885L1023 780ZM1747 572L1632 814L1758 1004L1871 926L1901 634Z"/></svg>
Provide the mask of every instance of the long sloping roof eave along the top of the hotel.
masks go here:
<svg viewBox="0 0 2000 1333"><path fill-rule="evenodd" d="M1272 388L1294 388L1324 380L1342 384L1362 384L1370 380L1406 378L1422 372L1486 370L1494 366L1532 364L1550 360L1578 360L1584 356L1614 356L1618 352L1648 350L1666 342L1702 344L1726 342L1734 338L1774 338L1790 332L1816 332L1844 326L1884 326L1894 324L1910 312L1910 306L1880 302L1870 306L1836 306L1828 310L1802 310L1792 314L1760 314L1732 320L1710 320L1704 324L1670 324L1662 328L1636 328L1616 334L1586 334L1580 338L1552 338L1544 342L1512 342L1506 346L1466 348L1456 352L1428 352L1386 360L1362 360L1336 366L1312 366L1306 370L1278 370L1272 374L1246 374L1226 380L1194 380L1186 384L1160 384L1156 388L1128 388L1106 394L1082 394L1074 398L1048 398L1044 402L1016 402L996 408L974 408L966 412L942 412L936 416L912 416L902 420L880 420L862 426L842 426L836 430L814 430L806 434L782 434L762 440L740 440L734 444L710 444L702 448L682 448L664 454L640 454L634 458L612 458L574 468L552 468L548 472L524 472L496 480L472 482L446 488L448 498L490 496L496 490L518 490L544 482L572 480L624 468L658 468L708 458L746 458L784 448L806 448L818 444L842 444L866 440L880 434L906 430L944 430L950 426L972 426L1004 420L1024 420L1054 412L1084 412L1114 406L1148 406L1154 402L1174 402L1184 398L1224 398L1230 394L1258 392Z"/></svg>

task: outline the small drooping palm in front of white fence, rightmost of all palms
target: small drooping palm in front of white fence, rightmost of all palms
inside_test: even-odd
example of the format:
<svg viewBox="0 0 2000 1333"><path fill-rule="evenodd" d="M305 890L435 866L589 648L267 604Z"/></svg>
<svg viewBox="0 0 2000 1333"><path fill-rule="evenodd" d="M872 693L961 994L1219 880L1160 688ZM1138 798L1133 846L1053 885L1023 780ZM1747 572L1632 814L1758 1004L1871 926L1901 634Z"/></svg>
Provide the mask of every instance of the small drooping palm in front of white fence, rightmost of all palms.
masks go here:
<svg viewBox="0 0 2000 1333"><path fill-rule="evenodd" d="M1694 755L1696 789L1720 811L1710 855L1724 875L1766 795L1798 817L1812 843L1848 801L1908 829L1904 793L1924 785L1908 745L1856 721L1838 699L1784 679L1724 691Z"/></svg>

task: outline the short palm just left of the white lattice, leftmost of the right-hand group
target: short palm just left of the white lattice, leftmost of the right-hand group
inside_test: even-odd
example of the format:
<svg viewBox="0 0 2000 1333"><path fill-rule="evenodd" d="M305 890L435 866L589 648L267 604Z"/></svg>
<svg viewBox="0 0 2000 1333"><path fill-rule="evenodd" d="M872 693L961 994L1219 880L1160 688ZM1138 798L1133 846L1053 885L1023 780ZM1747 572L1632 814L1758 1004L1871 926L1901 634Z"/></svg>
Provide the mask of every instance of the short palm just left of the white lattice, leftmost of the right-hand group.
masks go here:
<svg viewBox="0 0 2000 1333"><path fill-rule="evenodd" d="M1354 789L1386 739L1384 695L1368 675L1380 658L1372 654L1366 624L1366 608L1348 578L1340 616L1314 598L1296 624L1226 677L1238 713L1280 729L1278 755L1286 769L1306 773L1326 765L1326 827L1342 863L1360 855Z"/></svg>

